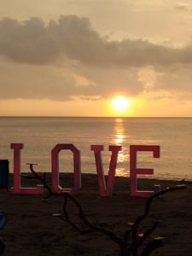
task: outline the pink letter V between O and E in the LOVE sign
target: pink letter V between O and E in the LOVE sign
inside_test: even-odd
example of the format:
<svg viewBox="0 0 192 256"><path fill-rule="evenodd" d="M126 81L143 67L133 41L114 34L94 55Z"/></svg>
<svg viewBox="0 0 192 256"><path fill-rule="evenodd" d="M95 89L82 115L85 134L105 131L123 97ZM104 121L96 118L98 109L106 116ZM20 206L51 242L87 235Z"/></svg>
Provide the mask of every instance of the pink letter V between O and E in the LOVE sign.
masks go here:
<svg viewBox="0 0 192 256"><path fill-rule="evenodd" d="M90 149L95 153L96 159L96 172L99 182L100 195L103 197L112 196L114 175L117 166L118 153L121 150L121 146L109 146L109 150L112 151L111 161L108 171L108 183L106 188L105 177L102 169L102 155L101 151L104 149L102 145L91 145Z"/></svg>

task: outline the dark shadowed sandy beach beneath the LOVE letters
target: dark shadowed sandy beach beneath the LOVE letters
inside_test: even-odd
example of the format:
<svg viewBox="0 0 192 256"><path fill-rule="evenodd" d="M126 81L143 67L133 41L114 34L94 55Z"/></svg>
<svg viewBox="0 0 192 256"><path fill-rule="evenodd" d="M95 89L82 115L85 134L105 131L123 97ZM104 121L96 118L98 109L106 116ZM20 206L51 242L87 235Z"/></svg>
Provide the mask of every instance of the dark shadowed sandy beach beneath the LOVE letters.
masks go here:
<svg viewBox="0 0 192 256"><path fill-rule="evenodd" d="M50 177L48 175L47 183ZM22 177L22 186L38 184L35 178ZM70 187L73 174L60 174L60 184ZM152 255L191 255L192 244L192 183L184 181L168 181L142 179L139 188L150 190L154 184L161 189L185 183L187 189L170 192L153 201L151 211L140 226L143 232L156 219L159 226L150 236L162 236L163 247ZM13 175L9 175L9 186L13 185ZM0 210L6 212L8 223L1 230L1 239L6 244L4 255L119 255L119 247L108 236L98 232L80 234L77 230L53 213L61 213L63 200L50 197L42 201L44 195L13 195L6 189L0 191ZM82 189L74 197L84 209L84 215L91 223L112 230L123 236L130 229L137 216L143 213L146 199L130 196L130 179L115 177L113 197L101 198L97 177L94 174L82 174ZM78 209L69 203L68 214L80 228L86 228L77 213Z"/></svg>

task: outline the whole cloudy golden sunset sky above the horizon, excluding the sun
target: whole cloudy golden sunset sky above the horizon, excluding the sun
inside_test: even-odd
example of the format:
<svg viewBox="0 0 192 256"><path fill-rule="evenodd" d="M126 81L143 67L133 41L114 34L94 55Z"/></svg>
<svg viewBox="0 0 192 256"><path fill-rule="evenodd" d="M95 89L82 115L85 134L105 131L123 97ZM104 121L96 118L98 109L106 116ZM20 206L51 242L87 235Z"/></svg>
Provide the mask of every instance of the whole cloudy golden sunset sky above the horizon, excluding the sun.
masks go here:
<svg viewBox="0 0 192 256"><path fill-rule="evenodd" d="M0 6L0 116L191 116L191 0Z"/></svg>

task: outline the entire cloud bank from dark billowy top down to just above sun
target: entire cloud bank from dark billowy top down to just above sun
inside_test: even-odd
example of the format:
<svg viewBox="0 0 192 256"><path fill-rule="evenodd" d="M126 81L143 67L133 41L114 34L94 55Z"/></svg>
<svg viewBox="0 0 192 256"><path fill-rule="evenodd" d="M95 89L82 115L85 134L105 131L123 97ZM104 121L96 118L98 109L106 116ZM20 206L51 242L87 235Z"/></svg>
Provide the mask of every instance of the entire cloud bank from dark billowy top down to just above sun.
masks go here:
<svg viewBox="0 0 192 256"><path fill-rule="evenodd" d="M0 62L1 99L93 100L161 90L192 96L192 44L173 48L142 38L110 41L89 19L76 15L48 23L37 17L3 18Z"/></svg>

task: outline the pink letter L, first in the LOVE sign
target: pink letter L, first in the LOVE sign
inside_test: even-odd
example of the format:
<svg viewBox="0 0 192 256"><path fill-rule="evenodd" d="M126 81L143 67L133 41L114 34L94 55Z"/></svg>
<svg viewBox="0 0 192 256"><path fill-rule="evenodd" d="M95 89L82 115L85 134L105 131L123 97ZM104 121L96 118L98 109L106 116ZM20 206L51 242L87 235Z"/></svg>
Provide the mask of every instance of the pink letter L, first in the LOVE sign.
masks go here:
<svg viewBox="0 0 192 256"><path fill-rule="evenodd" d="M37 188L20 188L20 149L23 148L21 143L12 143L11 148L14 149L14 188L11 190L14 194L22 195L38 195L42 194L42 189Z"/></svg>

